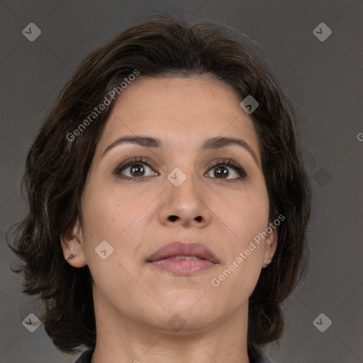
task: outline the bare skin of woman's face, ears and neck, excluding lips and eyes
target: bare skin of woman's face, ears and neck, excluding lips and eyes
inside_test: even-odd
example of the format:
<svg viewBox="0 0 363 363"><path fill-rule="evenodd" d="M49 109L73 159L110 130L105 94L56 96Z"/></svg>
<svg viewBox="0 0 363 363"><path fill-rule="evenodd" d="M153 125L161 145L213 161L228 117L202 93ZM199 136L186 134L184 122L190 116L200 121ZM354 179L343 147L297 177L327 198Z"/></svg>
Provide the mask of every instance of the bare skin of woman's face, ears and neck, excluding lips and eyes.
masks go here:
<svg viewBox="0 0 363 363"><path fill-rule="evenodd" d="M269 224L257 134L240 101L230 86L207 76L139 77L116 101L86 179L84 225L77 220L61 235L65 257L75 255L67 262L87 264L94 279L92 363L249 362L248 298L274 255L276 230L219 286L211 284ZM135 134L160 138L164 147L125 143L102 156L114 140ZM219 136L244 140L257 161L238 145L199 150L204 140ZM130 167L123 174L133 179L113 174L132 157L152 163L143 164L146 177L133 177ZM229 174L220 177L213 162L223 159L247 176L237 180L238 172L222 165ZM167 179L176 167L186 176L180 186ZM102 240L113 247L106 259L95 253ZM145 262L176 240L200 242L219 264L176 276ZM168 323L175 314L184 323L178 331Z"/></svg>

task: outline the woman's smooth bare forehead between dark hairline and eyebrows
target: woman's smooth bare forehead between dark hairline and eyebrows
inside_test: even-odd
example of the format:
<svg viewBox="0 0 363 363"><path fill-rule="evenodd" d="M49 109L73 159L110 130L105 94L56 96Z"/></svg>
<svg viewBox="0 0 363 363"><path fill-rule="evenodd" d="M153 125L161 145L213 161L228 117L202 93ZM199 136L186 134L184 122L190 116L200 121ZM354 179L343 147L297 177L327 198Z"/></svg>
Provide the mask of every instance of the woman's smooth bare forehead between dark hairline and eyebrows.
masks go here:
<svg viewBox="0 0 363 363"><path fill-rule="evenodd" d="M231 86L203 77L139 77L116 100L99 146L122 135L155 136L165 147L200 147L216 136L242 138L259 156L250 116Z"/></svg>

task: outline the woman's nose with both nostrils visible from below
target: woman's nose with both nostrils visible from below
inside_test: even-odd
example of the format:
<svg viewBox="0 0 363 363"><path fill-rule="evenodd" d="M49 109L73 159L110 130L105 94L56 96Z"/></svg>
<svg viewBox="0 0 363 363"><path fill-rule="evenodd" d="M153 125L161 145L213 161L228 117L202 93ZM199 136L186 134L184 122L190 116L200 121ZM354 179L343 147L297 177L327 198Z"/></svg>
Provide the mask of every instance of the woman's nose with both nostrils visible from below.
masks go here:
<svg viewBox="0 0 363 363"><path fill-rule="evenodd" d="M166 180L166 190L161 196L160 222L164 225L179 224L198 228L211 223L206 186L196 181L191 174L186 175L179 186L176 185Z"/></svg>

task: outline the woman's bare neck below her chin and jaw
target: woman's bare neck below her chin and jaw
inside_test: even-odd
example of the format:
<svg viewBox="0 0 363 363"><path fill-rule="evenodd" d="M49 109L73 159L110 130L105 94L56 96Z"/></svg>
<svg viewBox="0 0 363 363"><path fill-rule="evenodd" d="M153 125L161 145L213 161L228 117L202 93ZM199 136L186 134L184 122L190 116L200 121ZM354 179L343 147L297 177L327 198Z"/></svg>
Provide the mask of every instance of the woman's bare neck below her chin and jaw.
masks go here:
<svg viewBox="0 0 363 363"><path fill-rule="evenodd" d="M248 301L230 316L179 331L130 319L97 294L94 306L97 335L91 363L250 363Z"/></svg>

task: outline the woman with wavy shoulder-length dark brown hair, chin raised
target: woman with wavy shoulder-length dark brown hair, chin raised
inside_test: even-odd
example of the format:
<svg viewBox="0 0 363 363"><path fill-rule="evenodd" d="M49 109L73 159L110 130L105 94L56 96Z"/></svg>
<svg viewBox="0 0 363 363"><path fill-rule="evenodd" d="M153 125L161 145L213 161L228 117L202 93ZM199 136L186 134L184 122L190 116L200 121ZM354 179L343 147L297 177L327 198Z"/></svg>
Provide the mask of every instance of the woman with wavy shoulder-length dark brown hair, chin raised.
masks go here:
<svg viewBox="0 0 363 363"><path fill-rule="evenodd" d="M311 189L255 43L155 16L99 48L28 152L12 247L80 362L271 362Z"/></svg>

